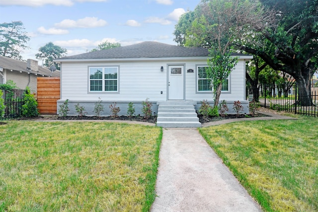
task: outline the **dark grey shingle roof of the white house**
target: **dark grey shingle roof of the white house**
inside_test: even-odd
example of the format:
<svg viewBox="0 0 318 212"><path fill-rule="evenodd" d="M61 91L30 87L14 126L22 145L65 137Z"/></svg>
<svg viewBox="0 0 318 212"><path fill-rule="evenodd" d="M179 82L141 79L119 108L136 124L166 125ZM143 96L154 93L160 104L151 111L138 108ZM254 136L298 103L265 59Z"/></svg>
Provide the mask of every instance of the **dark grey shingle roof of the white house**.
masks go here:
<svg viewBox="0 0 318 212"><path fill-rule="evenodd" d="M233 56L247 56L232 53ZM54 61L85 60L85 59L124 59L124 58L178 58L178 57L208 57L209 50L202 47L182 47L159 42L146 41L129 46L89 52L80 55L63 57Z"/></svg>

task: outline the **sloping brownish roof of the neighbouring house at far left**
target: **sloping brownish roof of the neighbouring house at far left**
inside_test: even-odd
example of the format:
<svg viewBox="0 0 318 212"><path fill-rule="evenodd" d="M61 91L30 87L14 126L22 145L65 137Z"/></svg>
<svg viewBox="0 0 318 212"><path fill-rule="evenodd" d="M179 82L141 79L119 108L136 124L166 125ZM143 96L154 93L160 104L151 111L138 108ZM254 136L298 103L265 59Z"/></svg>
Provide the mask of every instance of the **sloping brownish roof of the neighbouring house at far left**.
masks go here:
<svg viewBox="0 0 318 212"><path fill-rule="evenodd" d="M54 71L53 73L42 66L38 66L38 71L32 71L27 69L27 63L25 61L19 61L16 59L0 56L0 68L12 71L20 71L26 73L33 73L36 75L42 76L52 76L52 77L59 77L60 71Z"/></svg>

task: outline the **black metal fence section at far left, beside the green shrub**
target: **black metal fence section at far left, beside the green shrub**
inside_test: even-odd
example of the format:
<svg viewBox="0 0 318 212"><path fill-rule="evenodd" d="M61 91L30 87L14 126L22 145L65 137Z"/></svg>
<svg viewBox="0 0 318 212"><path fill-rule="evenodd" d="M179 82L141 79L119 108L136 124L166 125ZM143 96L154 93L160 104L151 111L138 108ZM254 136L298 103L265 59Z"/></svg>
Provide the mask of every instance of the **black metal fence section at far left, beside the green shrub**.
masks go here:
<svg viewBox="0 0 318 212"><path fill-rule="evenodd" d="M10 101L4 101L4 116L0 117L2 120L13 119L22 116L22 99L11 99Z"/></svg>

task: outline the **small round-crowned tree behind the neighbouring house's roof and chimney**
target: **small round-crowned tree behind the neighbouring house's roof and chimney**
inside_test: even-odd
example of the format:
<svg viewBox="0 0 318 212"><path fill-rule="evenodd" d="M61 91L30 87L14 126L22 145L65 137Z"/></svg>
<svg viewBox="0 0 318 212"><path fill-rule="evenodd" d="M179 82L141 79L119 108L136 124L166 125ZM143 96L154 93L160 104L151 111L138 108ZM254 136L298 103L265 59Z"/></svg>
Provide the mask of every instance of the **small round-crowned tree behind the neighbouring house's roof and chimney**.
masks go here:
<svg viewBox="0 0 318 212"><path fill-rule="evenodd" d="M45 60L45 67L50 68L51 66L55 66L57 70L60 70L60 65L53 62L53 60L64 57L67 52L66 49L49 42L45 46L40 47L39 51L41 53L37 53L35 57L39 60Z"/></svg>

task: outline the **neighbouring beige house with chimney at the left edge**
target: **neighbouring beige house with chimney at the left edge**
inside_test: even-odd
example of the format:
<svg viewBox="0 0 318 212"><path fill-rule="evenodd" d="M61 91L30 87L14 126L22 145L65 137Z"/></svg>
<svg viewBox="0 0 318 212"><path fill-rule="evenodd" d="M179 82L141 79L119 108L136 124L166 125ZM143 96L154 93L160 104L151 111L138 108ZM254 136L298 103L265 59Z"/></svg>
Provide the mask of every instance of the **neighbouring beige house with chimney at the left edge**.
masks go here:
<svg viewBox="0 0 318 212"><path fill-rule="evenodd" d="M12 80L20 89L28 86L31 92L37 92L37 77L59 77L60 71L50 71L38 65L35 60L28 59L27 62L0 56L0 84Z"/></svg>

